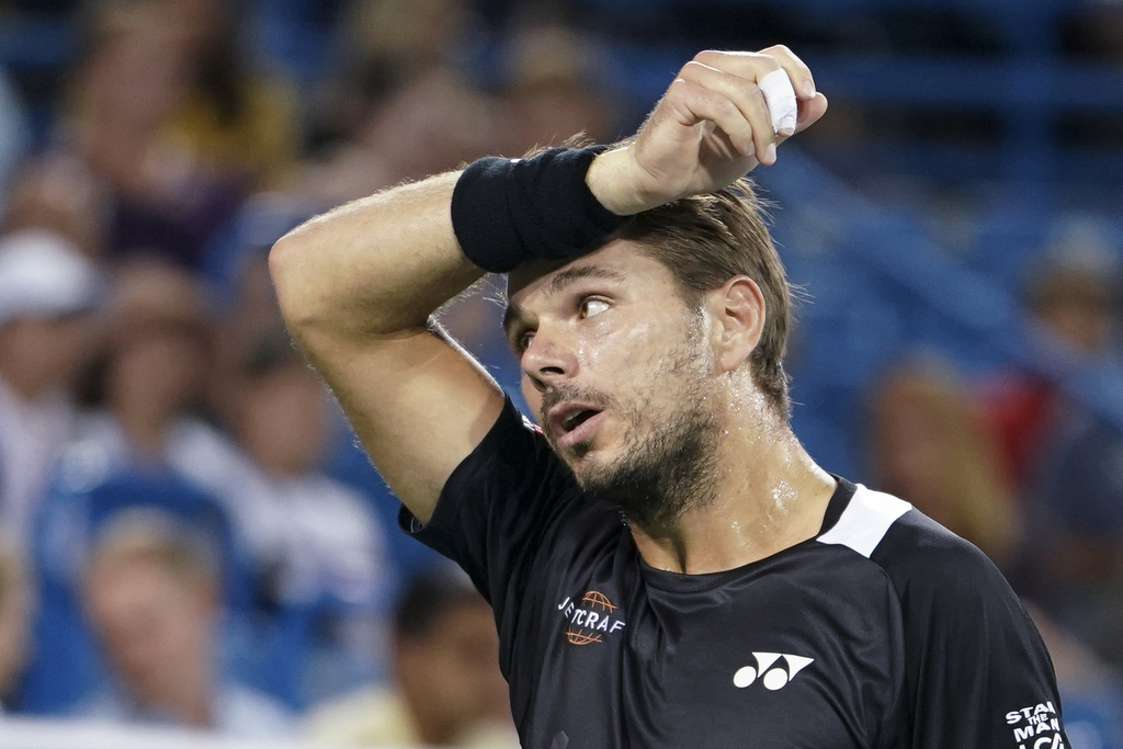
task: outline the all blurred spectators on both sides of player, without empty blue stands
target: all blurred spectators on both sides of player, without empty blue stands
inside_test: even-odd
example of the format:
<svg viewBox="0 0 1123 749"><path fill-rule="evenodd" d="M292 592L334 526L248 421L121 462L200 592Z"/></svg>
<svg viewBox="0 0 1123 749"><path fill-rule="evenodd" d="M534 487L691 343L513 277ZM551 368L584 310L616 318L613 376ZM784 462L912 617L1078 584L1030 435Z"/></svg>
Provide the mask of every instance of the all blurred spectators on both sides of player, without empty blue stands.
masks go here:
<svg viewBox="0 0 1123 749"><path fill-rule="evenodd" d="M489 608L395 528L266 254L340 202L611 140L633 112L549 7L495 37L467 0L339 0L309 79L252 43L277 33L252 3L75 4L81 53L45 126L0 70L3 711L517 746ZM1117 366L1119 247L1094 245L1042 253L1025 316L1043 349ZM514 392L487 296L446 322ZM1074 741L1123 746L1120 424L1054 378L968 378L932 351L867 401L858 478L994 559L1034 606Z"/></svg>

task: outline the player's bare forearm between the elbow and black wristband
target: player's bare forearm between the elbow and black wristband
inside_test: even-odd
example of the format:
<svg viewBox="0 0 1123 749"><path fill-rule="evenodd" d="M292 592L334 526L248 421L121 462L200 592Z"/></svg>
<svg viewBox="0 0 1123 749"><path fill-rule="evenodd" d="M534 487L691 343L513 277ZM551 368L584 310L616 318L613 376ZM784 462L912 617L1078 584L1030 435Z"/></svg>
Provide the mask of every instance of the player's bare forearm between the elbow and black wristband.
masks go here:
<svg viewBox="0 0 1123 749"><path fill-rule="evenodd" d="M456 243L449 204L458 174L441 174L341 205L282 237L270 270L290 330L395 336L483 271Z"/></svg>

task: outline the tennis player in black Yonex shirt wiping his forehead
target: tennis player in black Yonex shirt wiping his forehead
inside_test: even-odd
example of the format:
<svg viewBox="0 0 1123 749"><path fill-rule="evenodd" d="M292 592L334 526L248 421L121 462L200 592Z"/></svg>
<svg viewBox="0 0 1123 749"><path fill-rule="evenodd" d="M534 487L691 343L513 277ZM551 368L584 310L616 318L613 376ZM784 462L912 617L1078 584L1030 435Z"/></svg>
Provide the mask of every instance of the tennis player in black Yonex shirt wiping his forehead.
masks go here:
<svg viewBox="0 0 1123 749"><path fill-rule="evenodd" d="M281 239L287 323L402 523L491 602L528 749L1059 749L1049 656L976 548L819 467L750 186L827 101L703 52L631 139L485 158ZM431 316L509 273L539 426Z"/></svg>

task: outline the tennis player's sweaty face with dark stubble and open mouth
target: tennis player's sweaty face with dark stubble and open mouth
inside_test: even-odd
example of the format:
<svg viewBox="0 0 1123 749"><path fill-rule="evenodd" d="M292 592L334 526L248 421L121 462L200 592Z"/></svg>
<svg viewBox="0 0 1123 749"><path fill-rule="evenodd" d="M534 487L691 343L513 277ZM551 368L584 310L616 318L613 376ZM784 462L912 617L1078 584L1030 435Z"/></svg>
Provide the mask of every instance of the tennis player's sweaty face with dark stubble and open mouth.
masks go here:
<svg viewBox="0 0 1123 749"><path fill-rule="evenodd" d="M670 272L618 240L559 268L517 272L505 320L527 402L582 486L641 523L710 481L714 363Z"/></svg>

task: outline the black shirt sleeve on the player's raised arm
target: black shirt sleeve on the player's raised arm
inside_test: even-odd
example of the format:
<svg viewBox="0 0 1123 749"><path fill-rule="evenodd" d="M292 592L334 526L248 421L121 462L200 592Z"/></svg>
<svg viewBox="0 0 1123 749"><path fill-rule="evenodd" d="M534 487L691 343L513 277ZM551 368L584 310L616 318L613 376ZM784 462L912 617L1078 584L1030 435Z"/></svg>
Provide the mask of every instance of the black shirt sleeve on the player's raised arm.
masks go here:
<svg viewBox="0 0 1123 749"><path fill-rule="evenodd" d="M508 399L483 441L449 476L429 522L402 508L405 532L456 561L503 618L550 548L579 491L538 427Z"/></svg>

